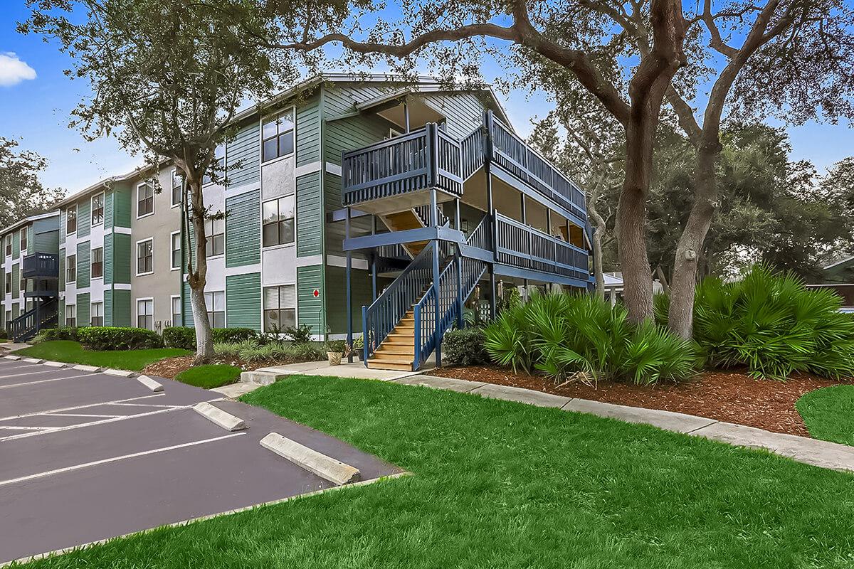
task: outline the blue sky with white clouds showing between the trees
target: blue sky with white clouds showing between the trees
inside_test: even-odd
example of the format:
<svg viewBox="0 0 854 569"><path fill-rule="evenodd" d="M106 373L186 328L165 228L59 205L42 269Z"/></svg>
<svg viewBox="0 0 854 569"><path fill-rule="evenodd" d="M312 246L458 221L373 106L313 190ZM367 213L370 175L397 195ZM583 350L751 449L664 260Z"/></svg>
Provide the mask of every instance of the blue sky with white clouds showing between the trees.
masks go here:
<svg viewBox="0 0 854 569"><path fill-rule="evenodd" d="M13 4L14 3L14 4ZM15 5L16 4L16 5ZM97 180L132 170L142 160L126 154L113 139L86 142L67 127L68 113L88 95L87 85L67 78L67 58L41 38L15 32L26 18L23 2L9 2L0 15L0 136L20 139L20 147L35 150L50 161L42 176L49 187L83 189ZM11 55L14 54L14 55ZM502 73L487 63L486 78ZM514 127L523 135L530 119L552 107L545 93L518 91L500 96ZM846 124L790 127L794 160L810 160L819 171L854 154L854 129Z"/></svg>

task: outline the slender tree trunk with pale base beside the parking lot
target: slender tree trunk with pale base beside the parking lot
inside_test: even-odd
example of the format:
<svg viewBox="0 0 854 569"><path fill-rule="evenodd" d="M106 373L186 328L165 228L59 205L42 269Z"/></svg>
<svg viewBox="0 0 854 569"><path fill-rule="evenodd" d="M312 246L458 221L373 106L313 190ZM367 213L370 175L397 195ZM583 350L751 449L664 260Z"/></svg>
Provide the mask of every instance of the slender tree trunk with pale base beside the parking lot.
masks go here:
<svg viewBox="0 0 854 569"><path fill-rule="evenodd" d="M213 359L213 339L211 338L211 324L208 319L208 307L205 305L205 285L208 277L208 259L206 249L208 238L205 235L205 207L202 198L202 180L190 180L190 203L192 205L192 217L190 221L193 227L193 235L196 236L195 261L188 264L187 282L190 285L190 305L193 309L193 323L196 326L196 358L193 363L198 365L208 363Z"/></svg>

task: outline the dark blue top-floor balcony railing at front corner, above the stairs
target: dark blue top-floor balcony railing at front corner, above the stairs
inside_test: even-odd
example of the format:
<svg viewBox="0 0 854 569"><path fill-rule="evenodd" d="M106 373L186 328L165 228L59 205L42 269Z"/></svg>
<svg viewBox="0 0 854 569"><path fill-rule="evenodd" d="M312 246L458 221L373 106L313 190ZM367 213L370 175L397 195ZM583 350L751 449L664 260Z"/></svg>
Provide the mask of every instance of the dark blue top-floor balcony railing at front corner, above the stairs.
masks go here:
<svg viewBox="0 0 854 569"><path fill-rule="evenodd" d="M342 202L345 206L442 189L462 195L459 142L430 123L418 131L371 144L342 156Z"/></svg>

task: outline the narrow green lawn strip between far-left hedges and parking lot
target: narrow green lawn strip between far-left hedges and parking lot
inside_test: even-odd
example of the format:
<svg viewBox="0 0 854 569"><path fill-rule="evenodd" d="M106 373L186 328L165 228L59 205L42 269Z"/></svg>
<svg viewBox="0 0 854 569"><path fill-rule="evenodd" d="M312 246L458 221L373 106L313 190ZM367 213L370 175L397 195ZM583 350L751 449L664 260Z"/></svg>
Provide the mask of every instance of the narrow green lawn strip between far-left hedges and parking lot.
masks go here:
<svg viewBox="0 0 854 569"><path fill-rule="evenodd" d="M186 356L191 353L177 348L155 348L151 350L94 351L84 350L79 342L51 340L15 351L26 357L39 357L55 362L84 363L102 368L132 369L139 371L149 363L165 357Z"/></svg>

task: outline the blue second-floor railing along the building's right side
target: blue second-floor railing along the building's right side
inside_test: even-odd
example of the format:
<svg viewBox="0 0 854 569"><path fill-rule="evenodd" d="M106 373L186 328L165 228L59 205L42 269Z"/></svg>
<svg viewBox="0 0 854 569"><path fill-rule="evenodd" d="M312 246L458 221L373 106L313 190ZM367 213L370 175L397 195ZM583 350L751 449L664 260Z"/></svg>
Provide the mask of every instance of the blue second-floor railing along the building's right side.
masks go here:
<svg viewBox="0 0 854 569"><path fill-rule="evenodd" d="M522 269L587 281L588 252L515 219L495 213L495 259Z"/></svg>

